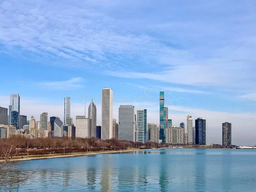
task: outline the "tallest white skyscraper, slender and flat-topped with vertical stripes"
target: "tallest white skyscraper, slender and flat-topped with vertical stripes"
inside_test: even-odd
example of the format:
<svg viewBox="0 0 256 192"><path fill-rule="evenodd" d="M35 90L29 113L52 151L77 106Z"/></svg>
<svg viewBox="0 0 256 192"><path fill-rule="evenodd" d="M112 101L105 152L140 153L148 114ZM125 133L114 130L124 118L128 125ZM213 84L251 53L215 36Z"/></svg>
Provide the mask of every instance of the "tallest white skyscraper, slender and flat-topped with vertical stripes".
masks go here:
<svg viewBox="0 0 256 192"><path fill-rule="evenodd" d="M101 139L108 140L113 137L113 90L101 90Z"/></svg>

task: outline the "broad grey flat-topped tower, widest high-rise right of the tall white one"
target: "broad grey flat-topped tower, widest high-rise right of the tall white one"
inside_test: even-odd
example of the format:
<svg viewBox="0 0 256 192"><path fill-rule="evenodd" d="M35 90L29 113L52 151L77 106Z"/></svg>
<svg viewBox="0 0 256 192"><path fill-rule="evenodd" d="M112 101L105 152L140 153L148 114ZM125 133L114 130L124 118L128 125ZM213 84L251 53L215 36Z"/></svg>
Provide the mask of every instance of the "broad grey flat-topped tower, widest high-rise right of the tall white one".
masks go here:
<svg viewBox="0 0 256 192"><path fill-rule="evenodd" d="M135 141L135 109L132 105L118 108L118 139Z"/></svg>

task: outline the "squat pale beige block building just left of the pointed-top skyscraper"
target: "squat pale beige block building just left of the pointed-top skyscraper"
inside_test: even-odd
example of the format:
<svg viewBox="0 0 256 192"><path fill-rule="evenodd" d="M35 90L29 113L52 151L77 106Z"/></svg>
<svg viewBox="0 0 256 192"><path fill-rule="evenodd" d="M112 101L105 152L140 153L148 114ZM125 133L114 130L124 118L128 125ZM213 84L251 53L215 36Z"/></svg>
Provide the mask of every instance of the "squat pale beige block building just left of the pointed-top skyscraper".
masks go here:
<svg viewBox="0 0 256 192"><path fill-rule="evenodd" d="M88 118L76 116L76 137L88 138Z"/></svg>

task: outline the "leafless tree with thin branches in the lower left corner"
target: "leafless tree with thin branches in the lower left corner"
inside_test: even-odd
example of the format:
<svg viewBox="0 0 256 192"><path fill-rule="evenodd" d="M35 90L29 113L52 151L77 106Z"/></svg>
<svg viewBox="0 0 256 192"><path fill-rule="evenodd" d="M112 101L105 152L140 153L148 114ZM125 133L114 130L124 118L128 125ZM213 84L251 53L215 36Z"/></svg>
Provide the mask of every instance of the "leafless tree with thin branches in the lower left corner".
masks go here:
<svg viewBox="0 0 256 192"><path fill-rule="evenodd" d="M12 191L15 185L24 186L34 173L25 173L21 177L13 172L19 161L15 157L18 155L19 145L19 137L13 137L0 144L0 191Z"/></svg>

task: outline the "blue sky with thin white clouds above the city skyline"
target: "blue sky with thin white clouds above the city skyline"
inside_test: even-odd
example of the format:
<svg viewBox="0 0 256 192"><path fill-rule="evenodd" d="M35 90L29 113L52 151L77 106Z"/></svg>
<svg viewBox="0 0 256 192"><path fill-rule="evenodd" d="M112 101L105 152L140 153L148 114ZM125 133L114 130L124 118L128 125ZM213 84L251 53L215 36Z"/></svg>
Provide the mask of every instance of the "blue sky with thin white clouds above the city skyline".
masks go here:
<svg viewBox="0 0 256 192"><path fill-rule="evenodd" d="M252 144L255 5L0 1L0 105L8 107L9 95L19 93L24 115L38 119L46 111L63 118L63 100L70 96L75 117L84 113L81 97L96 98L106 86L128 102L164 91L172 98L166 106L174 124L189 113L206 118L207 144L221 143L225 121L232 123L234 144ZM148 108L148 122L158 122L158 103L133 104ZM99 104L97 109L100 124Z"/></svg>

